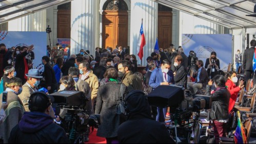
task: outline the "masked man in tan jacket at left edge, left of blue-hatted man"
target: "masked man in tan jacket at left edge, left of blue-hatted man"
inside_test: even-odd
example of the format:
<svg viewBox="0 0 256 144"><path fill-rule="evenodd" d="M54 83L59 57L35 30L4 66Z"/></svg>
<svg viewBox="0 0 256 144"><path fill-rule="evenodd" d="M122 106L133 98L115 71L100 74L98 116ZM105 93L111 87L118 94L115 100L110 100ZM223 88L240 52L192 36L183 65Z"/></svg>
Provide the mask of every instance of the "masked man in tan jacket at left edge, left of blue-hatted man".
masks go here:
<svg viewBox="0 0 256 144"><path fill-rule="evenodd" d="M21 99L18 98L18 94L22 91L22 80L13 77L6 83L6 87L8 107L5 110L6 118L0 125L0 137L3 136L4 143L8 143L12 128L21 121L25 112ZM3 94L0 94L0 98L2 97ZM0 105L2 105L2 99L0 99Z"/></svg>

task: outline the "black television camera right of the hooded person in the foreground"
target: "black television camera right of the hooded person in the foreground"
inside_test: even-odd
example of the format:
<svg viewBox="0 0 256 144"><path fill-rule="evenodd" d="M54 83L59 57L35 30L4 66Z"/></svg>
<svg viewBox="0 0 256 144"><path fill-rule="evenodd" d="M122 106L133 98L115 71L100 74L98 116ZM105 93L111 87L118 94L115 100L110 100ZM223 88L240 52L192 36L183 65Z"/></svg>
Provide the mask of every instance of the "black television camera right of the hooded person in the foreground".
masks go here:
<svg viewBox="0 0 256 144"><path fill-rule="evenodd" d="M167 129L173 137L178 135L182 142L189 142L192 131L198 126L200 111L210 109L212 99L208 95L192 97L192 94L182 86L161 85L148 94L148 101L151 106L170 107L171 118L169 124L166 125ZM195 116L191 121L193 112ZM179 134L177 129L179 129ZM178 141L177 137L176 141Z"/></svg>

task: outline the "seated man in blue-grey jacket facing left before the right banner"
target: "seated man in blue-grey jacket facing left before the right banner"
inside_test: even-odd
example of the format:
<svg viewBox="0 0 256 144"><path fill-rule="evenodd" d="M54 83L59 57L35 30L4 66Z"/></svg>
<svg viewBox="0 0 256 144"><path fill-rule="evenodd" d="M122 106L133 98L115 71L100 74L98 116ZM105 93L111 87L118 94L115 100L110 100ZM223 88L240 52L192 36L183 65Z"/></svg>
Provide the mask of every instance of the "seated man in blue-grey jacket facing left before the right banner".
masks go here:
<svg viewBox="0 0 256 144"><path fill-rule="evenodd" d="M204 62L198 60L196 61L196 66L198 66L198 71L196 71L195 81L188 82L188 89L193 88L193 95L197 94L199 89L205 88L208 83L208 74L204 68Z"/></svg>

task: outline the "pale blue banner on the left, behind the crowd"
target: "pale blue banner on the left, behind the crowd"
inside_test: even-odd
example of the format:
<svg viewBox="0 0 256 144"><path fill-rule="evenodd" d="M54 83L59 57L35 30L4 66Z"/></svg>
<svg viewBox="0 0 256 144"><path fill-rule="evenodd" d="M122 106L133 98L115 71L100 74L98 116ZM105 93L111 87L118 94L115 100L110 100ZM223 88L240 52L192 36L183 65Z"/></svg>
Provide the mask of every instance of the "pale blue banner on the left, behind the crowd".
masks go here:
<svg viewBox="0 0 256 144"><path fill-rule="evenodd" d="M33 67L35 66L41 72L44 71L41 59L46 56L47 33L46 32L11 32L0 31L0 43L4 43L6 48L12 46L29 46L34 45L35 59L33 60Z"/></svg>

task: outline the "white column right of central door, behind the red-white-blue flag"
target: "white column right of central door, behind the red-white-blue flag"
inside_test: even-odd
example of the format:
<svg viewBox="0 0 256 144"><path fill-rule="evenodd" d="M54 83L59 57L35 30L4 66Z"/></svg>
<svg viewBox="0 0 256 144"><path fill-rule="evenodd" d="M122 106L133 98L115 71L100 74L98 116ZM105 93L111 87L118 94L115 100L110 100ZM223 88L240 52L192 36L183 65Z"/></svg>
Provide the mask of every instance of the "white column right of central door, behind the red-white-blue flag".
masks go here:
<svg viewBox="0 0 256 144"><path fill-rule="evenodd" d="M146 59L154 52L154 44L157 36L157 3L151 0L132 0L131 1L131 25L130 25L130 52L137 57L137 41L140 35L141 22L143 18L143 30L146 39L146 45L143 47L144 56L142 64L146 65Z"/></svg>

